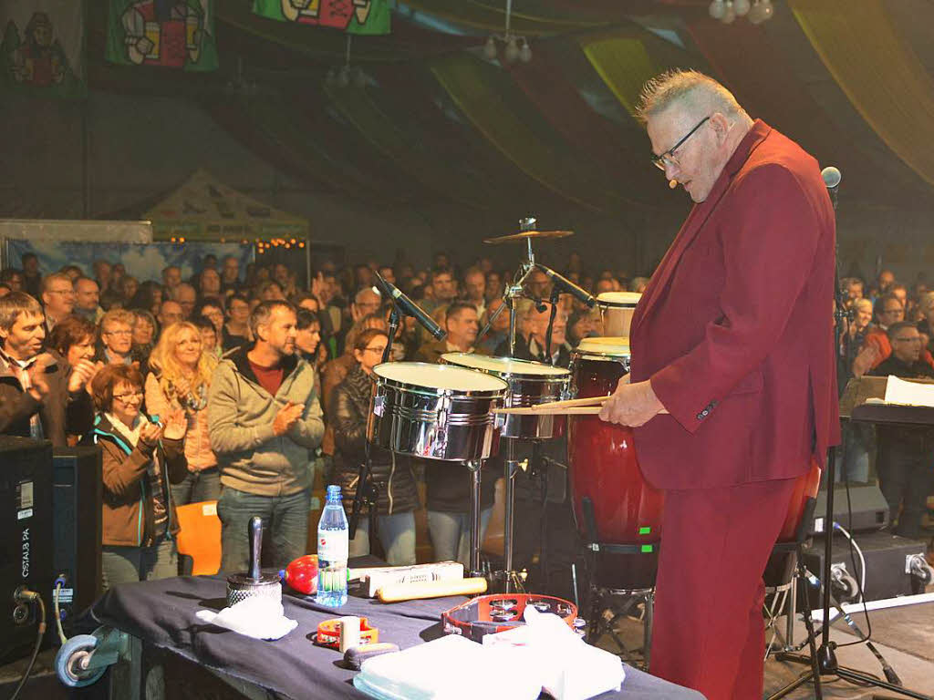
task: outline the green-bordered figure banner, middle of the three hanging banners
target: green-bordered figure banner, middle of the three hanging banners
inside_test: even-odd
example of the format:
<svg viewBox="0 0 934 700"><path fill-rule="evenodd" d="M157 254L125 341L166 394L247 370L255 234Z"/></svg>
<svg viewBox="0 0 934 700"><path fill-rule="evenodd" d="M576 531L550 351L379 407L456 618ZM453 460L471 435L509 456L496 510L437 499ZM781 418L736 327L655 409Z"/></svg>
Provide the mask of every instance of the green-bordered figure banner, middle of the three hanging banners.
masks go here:
<svg viewBox="0 0 934 700"><path fill-rule="evenodd" d="M106 58L121 65L218 69L215 0L110 0Z"/></svg>

